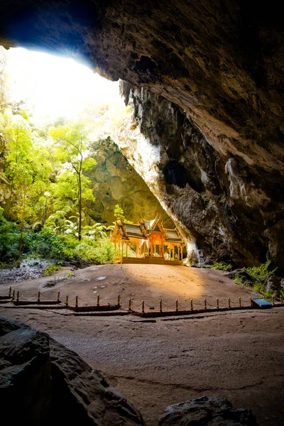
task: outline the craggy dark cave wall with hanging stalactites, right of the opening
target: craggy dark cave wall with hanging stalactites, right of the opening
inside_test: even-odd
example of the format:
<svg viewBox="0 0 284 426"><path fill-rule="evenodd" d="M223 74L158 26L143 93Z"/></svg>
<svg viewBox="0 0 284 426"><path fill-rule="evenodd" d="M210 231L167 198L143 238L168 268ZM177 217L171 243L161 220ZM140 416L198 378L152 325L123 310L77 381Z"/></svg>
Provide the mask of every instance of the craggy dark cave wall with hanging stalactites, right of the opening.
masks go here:
<svg viewBox="0 0 284 426"><path fill-rule="evenodd" d="M254 208L256 172L241 158L228 160L214 150L184 111L164 97L126 82L121 94L133 107L133 121L117 143L204 261L242 266L266 261L266 223L275 209L268 199ZM155 155L144 154L151 151Z"/></svg>

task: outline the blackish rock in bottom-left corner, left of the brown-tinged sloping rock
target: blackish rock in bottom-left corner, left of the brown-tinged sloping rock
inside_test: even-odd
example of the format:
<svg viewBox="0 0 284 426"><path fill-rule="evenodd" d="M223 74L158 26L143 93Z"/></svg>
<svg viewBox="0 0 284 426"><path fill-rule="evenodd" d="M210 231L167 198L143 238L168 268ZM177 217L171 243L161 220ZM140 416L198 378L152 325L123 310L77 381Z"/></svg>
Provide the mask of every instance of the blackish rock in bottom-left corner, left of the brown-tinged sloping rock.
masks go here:
<svg viewBox="0 0 284 426"><path fill-rule="evenodd" d="M1 406L15 424L41 424L51 402L48 334L23 327L2 335L0 359Z"/></svg>

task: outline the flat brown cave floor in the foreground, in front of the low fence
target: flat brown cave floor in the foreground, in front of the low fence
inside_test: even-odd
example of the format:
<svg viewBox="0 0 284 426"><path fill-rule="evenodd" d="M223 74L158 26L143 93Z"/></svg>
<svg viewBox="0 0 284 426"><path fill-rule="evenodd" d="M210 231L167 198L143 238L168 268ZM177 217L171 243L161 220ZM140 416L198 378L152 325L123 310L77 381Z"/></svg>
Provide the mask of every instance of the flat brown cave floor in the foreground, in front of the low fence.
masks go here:
<svg viewBox="0 0 284 426"><path fill-rule="evenodd" d="M76 351L157 426L167 405L201 395L251 408L261 426L283 424L284 308L192 317L74 317L5 309ZM153 320L152 320L153 321Z"/></svg>

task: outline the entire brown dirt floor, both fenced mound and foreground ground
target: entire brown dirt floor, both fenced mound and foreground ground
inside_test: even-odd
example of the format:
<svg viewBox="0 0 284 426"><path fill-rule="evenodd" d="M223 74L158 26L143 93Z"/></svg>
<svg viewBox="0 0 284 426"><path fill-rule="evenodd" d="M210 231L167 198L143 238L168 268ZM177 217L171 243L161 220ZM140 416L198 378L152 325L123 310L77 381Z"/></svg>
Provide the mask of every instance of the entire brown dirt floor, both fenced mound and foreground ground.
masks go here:
<svg viewBox="0 0 284 426"><path fill-rule="evenodd" d="M82 304L121 295L137 305L145 300L158 308L190 297L226 304L231 297L254 295L239 288L221 271L180 266L93 266L45 288L50 278L15 283L24 297L58 289ZM97 280L105 276L104 280ZM45 280L45 281L44 281ZM101 285L106 287L101 288ZM97 289L94 289L97 287ZM0 287L0 294L4 293ZM85 302L84 300L87 300ZM91 302L89 302L91 300ZM198 306L198 305L197 305ZM140 308L139 308L140 309ZM166 308L165 308L166 309ZM69 311L70 312L70 311ZM67 310L0 307L0 315L22 320L48 332L99 370L141 410L147 426L157 426L167 405L201 395L224 396L237 407L251 408L261 426L283 425L284 307L272 310L208 312L156 320L126 317L77 317Z"/></svg>

